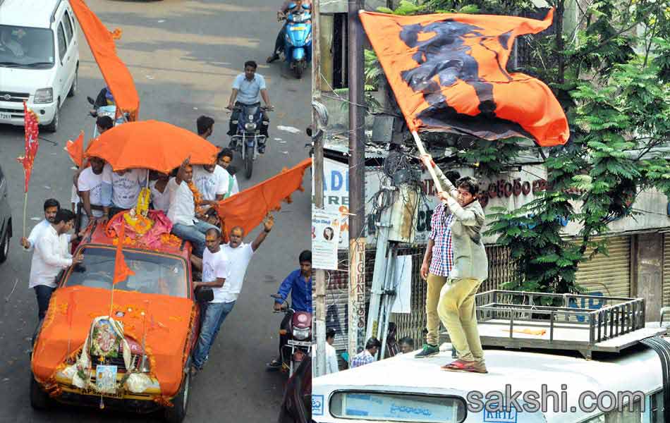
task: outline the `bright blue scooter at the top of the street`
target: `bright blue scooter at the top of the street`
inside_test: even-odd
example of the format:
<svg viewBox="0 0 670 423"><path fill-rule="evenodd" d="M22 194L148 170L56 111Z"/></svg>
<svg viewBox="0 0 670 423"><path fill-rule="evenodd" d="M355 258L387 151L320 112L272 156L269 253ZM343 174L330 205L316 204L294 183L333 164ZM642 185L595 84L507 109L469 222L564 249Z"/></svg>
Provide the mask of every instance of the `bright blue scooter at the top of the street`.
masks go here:
<svg viewBox="0 0 670 423"><path fill-rule="evenodd" d="M303 71L312 61L312 10L303 4L296 10L296 6L288 6L286 17L286 35L284 36L284 59L293 69L296 78L303 78Z"/></svg>

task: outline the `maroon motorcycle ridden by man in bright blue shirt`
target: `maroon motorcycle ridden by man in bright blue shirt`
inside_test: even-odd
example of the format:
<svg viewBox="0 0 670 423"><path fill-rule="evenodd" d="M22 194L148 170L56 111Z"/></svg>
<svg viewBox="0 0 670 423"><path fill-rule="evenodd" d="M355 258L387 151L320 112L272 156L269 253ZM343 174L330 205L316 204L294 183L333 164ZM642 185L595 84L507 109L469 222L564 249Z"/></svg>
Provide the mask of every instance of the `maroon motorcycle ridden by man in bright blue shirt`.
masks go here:
<svg viewBox="0 0 670 423"><path fill-rule="evenodd" d="M279 298L279 295L270 295ZM305 357L312 356L312 313L296 312L296 310L284 307L275 313L286 313L291 316L291 326L288 333L280 329L280 335L288 335L286 345L281 348L281 369L288 371L288 377L293 376L300 363Z"/></svg>

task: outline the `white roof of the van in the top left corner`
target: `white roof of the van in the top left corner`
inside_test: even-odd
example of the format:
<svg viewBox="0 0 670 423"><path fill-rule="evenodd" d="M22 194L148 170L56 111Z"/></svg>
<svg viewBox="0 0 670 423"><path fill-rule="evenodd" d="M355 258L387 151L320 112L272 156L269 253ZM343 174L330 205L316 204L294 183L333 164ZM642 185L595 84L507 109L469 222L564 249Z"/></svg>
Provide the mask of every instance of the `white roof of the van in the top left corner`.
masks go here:
<svg viewBox="0 0 670 423"><path fill-rule="evenodd" d="M0 0L0 25L49 28L51 14L61 1Z"/></svg>

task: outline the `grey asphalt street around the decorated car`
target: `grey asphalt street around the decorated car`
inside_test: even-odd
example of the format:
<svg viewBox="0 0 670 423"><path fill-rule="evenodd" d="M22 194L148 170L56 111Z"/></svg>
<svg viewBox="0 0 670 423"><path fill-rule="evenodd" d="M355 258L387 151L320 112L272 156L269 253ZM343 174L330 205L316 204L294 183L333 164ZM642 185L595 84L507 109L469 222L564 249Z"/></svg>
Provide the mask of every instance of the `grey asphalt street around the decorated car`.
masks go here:
<svg viewBox="0 0 670 423"><path fill-rule="evenodd" d="M276 4L264 0L87 0L110 30L119 27L118 55L132 73L140 94L140 119L157 119L195 131L201 114L214 117L215 145L227 145L229 115L224 111L233 78L247 59L259 63L267 78L272 104L269 147L255 162L250 180L238 173L240 189L279 173L305 159L309 140L310 80L296 80L281 63L268 66L280 24ZM80 37L79 92L61 109L57 133L42 131L30 180L26 232L43 219L42 202L56 197L69 207L72 163L63 151L80 130L92 134L86 96L104 85L102 74ZM291 133L283 127L297 128ZM159 417L56 407L36 412L30 407L30 336L37 323L35 293L28 288L30 253L22 251L23 128L0 125L0 164L8 179L14 237L9 259L0 265L0 422L147 422ZM205 369L190 391L187 422L274 422L286 376L267 373L264 364L276 354L281 315L272 313L279 283L298 268L298 254L310 247L309 171L291 204L275 214L276 225L247 271L243 292L224 322ZM251 242L256 231L246 237Z"/></svg>

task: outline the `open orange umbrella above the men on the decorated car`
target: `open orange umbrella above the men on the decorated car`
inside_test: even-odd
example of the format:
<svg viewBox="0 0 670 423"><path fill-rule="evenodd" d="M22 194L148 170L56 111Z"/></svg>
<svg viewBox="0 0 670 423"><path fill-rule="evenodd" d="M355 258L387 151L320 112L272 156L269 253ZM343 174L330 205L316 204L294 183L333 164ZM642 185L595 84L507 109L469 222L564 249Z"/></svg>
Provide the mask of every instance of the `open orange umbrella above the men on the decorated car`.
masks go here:
<svg viewBox="0 0 670 423"><path fill-rule="evenodd" d="M105 159L114 171L145 168L169 173L190 156L192 164L211 164L219 149L198 135L159 121L128 122L106 130L86 149L86 157Z"/></svg>

